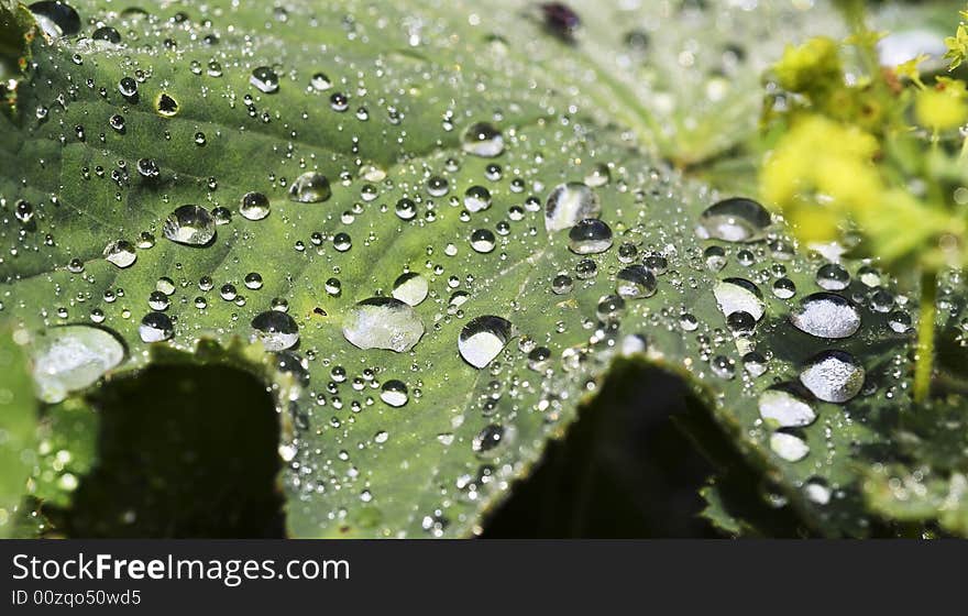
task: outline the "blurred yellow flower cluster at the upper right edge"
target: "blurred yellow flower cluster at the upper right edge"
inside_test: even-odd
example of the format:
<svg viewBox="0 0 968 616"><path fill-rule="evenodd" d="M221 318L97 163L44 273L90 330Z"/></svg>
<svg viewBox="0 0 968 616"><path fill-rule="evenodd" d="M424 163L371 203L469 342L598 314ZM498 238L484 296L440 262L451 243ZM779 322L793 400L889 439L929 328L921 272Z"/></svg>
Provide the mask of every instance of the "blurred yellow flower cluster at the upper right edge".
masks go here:
<svg viewBox="0 0 968 616"><path fill-rule="evenodd" d="M848 44L878 66L877 35L862 34ZM792 98L765 116L774 123L768 129L781 130L760 190L803 241L829 242L849 230L889 266L968 263L965 210L953 196L968 184L968 165L946 152L947 142L939 145L942 133L957 135L968 122L968 95L955 79L924 85L923 59L848 85L840 44L820 37L789 47L774 66L777 86Z"/></svg>

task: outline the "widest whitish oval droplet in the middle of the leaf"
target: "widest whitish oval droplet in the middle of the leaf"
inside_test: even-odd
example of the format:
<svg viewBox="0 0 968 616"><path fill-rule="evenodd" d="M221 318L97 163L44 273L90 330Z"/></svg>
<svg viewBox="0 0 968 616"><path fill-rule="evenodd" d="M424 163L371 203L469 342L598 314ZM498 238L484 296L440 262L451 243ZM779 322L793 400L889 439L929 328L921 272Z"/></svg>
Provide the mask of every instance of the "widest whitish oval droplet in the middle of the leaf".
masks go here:
<svg viewBox="0 0 968 616"><path fill-rule="evenodd" d="M405 353L424 336L417 311L399 299L371 297L356 304L343 322L343 337L360 349Z"/></svg>

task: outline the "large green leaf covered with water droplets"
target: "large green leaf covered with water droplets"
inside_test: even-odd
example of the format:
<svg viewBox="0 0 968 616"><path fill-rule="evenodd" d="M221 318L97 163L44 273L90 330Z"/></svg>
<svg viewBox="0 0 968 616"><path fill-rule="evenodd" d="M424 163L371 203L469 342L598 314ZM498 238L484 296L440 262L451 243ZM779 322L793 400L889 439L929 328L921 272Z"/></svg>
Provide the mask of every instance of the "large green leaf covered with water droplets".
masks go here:
<svg viewBox="0 0 968 616"><path fill-rule="evenodd" d="M887 280L871 284L858 275L864 264L847 262L854 282L842 293L862 305L859 332L846 340L800 332L788 316L821 290L826 261L794 254L780 224L748 244L697 238L701 213L728 195L683 179L654 155L689 166L745 138L759 66L804 24L828 23L825 9L724 4L670 15L578 3L586 25L569 35L517 3L483 12L472 3L215 1L152 15L74 6L81 35L101 20L121 45L36 43L36 66L19 87L23 112L0 120L8 169L0 204L14 215L0 228L0 315L33 333L35 364L58 366L62 389L81 394L103 374L105 397L117 402L111 388L127 391L124 374L153 359L191 365L186 353L197 351L234 362L265 380L278 407L289 535L468 536L564 433L616 358L645 354L688 380L810 529L868 532L856 464L868 461L865 447L883 442L871 424L903 395L910 338L893 333L873 299ZM656 19L680 18L681 28L654 30ZM723 20L733 28L708 43L747 53L669 57ZM617 37L625 24L648 31L646 51ZM771 31L776 37L763 35ZM634 56L634 70L620 70L619 54ZM721 67L735 78L711 80L707 62L736 62ZM262 67L277 77L276 91ZM119 87L129 77L136 96L129 82ZM337 94L348 97L345 109ZM686 106L689 113L676 111ZM734 127L724 110L745 120ZM481 123L502 142L468 143L469 131L487 132ZM329 189L317 186L317 202L292 200L290 187L309 172ZM587 190L613 234L607 250L594 226L582 249L594 253L580 255L569 248L574 220L559 215L546 224L552 193L576 182L594 185ZM253 191L267 198L271 213L261 220L240 212ZM186 205L230 220L204 245L186 245L212 231L198 209L176 213ZM180 227L169 234L182 243L165 237L173 213ZM105 258L111 246L113 262ZM132 250L136 261L120 267ZM647 268L619 275L634 265ZM396 288L406 276L408 286ZM771 290L783 276L796 286L792 299ZM734 336L717 306L718 290L724 305L733 295L758 311L727 278L760 289L765 316L752 336ZM649 295L653 284L654 295L616 299L618 289ZM416 306L388 305L394 290ZM85 333L84 323L100 333ZM273 331L262 336L253 323ZM67 324L74 329L58 328ZM298 343L279 351L296 332ZM777 430L760 417L761 394L774 381L795 382L827 349L853 353L869 386L846 406L805 395L820 419L771 447ZM765 356L761 376L741 360L752 350ZM50 372L35 370L42 385ZM95 429L114 432L87 403L59 397L45 398L57 405L48 438L76 443L68 472L79 480L58 487L63 472L42 468L34 487L58 510L110 485L99 480L99 461L135 447L95 442ZM67 414L63 426L82 435L58 436ZM179 442L177 430L153 433ZM805 458L777 453L790 458L791 447L803 447L796 439L810 449ZM820 503L816 486L831 498Z"/></svg>

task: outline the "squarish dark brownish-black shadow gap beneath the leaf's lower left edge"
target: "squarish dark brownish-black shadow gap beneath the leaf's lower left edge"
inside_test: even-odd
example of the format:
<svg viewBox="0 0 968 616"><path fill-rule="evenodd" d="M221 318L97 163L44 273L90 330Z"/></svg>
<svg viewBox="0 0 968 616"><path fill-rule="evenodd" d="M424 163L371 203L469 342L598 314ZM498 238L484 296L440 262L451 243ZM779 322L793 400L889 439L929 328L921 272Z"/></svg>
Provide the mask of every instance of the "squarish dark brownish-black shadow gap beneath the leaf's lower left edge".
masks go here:
<svg viewBox="0 0 968 616"><path fill-rule="evenodd" d="M61 528L68 537L282 537L279 424L252 375L153 366L90 400L97 462Z"/></svg>

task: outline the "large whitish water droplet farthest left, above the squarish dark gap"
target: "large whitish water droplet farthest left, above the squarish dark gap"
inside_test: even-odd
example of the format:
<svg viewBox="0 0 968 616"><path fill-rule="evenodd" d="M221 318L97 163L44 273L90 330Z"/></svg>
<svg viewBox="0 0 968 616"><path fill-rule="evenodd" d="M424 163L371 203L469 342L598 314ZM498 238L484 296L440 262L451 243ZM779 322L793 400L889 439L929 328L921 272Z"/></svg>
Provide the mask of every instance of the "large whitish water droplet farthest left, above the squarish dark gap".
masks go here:
<svg viewBox="0 0 968 616"><path fill-rule="evenodd" d="M37 397L55 404L119 365L124 345L113 333L94 326L64 326L38 336L31 359Z"/></svg>

